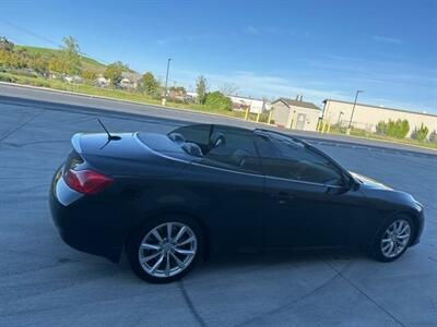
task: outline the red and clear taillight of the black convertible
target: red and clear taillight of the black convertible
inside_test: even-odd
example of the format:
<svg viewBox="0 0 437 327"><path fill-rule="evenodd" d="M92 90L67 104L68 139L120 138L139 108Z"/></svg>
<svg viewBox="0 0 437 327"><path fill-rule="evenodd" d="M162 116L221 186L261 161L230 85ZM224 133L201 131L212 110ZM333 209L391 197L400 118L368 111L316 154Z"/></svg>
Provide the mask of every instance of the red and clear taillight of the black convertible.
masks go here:
<svg viewBox="0 0 437 327"><path fill-rule="evenodd" d="M93 170L67 170L64 174L67 185L83 194L97 194L108 187L114 180Z"/></svg>

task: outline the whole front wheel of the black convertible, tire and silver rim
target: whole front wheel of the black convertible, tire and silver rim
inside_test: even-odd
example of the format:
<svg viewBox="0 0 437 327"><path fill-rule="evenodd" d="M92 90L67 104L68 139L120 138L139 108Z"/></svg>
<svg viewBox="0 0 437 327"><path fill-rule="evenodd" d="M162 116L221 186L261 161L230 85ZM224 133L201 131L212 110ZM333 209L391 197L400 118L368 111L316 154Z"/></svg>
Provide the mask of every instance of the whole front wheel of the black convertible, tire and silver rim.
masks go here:
<svg viewBox="0 0 437 327"><path fill-rule="evenodd" d="M371 255L380 262L393 262L409 247L413 235L413 223L408 216L390 219L378 232Z"/></svg>

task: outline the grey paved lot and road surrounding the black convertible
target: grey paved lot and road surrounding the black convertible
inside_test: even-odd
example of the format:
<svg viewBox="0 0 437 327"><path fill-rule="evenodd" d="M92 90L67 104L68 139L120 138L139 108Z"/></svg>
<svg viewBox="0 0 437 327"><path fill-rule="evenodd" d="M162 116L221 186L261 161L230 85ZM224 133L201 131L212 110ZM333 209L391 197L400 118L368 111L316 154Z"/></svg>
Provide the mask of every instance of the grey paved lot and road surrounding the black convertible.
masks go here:
<svg viewBox="0 0 437 327"><path fill-rule="evenodd" d="M437 326L432 152L312 140L346 168L424 204L421 244L391 264L346 251L241 254L156 286L139 280L125 259L116 265L70 249L51 221L48 189L72 134L101 131L96 117L117 132L167 132L187 121L243 124L141 108L0 86L1 326ZM139 110L143 116L132 114Z"/></svg>

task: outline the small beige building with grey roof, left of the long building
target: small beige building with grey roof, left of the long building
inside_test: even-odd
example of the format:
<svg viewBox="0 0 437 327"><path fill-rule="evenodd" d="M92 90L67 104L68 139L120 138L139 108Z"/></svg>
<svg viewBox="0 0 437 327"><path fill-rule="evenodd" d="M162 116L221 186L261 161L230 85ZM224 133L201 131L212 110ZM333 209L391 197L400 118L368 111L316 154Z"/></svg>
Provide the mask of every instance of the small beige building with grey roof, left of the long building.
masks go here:
<svg viewBox="0 0 437 327"><path fill-rule="evenodd" d="M275 125L300 131L316 131L321 113L319 107L303 101L302 96L295 100L279 98L272 102L272 110Z"/></svg>

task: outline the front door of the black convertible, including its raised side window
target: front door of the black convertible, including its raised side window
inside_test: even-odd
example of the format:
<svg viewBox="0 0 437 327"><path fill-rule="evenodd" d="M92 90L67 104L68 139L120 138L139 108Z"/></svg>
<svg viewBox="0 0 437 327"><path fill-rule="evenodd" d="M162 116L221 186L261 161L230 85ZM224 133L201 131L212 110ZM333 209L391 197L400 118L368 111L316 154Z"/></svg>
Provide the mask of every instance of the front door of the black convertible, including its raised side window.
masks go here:
<svg viewBox="0 0 437 327"><path fill-rule="evenodd" d="M349 243L361 195L342 185L332 162L286 136L259 137L265 174L264 246Z"/></svg>

